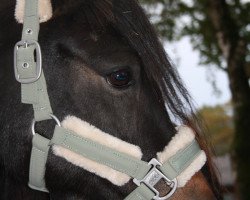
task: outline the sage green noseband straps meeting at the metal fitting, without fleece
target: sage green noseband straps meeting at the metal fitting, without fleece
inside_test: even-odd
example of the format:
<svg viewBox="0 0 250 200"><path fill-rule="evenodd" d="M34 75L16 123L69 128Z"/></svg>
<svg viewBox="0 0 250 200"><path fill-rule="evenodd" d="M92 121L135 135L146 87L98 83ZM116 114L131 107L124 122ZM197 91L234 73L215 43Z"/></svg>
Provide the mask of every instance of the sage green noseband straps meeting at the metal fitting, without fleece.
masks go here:
<svg viewBox="0 0 250 200"><path fill-rule="evenodd" d="M155 196L154 191L150 188L154 186L152 182L157 183L162 177L166 177L170 181L175 179L201 153L197 141L193 140L185 148L180 149L175 155L170 157L162 166L158 166L155 169L142 160L81 137L59 126L55 128L50 145L62 146L83 157L139 180L139 187L126 200L152 199L152 195L153 197ZM158 171L163 175L159 175Z"/></svg>

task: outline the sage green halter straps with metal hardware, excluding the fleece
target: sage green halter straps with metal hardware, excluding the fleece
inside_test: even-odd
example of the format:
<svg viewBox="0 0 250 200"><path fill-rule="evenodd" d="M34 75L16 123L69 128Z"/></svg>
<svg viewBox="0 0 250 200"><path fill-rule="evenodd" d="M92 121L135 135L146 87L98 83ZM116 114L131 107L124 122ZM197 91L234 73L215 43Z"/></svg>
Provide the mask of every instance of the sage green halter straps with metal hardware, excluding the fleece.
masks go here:
<svg viewBox="0 0 250 200"><path fill-rule="evenodd" d="M179 186L176 177L192 166L195 159L204 153L197 141L192 139L163 163L155 158L147 163L61 127L60 121L53 115L42 70L42 54L38 43L38 7L38 0L25 1L22 40L15 45L14 51L14 71L16 80L21 83L22 103L32 104L34 110L29 187L49 192L44 180L45 165L49 148L57 145L132 177L138 187L125 200L165 200L170 198ZM54 119L57 124L51 140L35 132L36 122L50 119ZM178 140L180 141L180 139ZM197 171L204 162L197 167ZM169 192L165 196L161 196L155 187L161 180L169 188Z"/></svg>

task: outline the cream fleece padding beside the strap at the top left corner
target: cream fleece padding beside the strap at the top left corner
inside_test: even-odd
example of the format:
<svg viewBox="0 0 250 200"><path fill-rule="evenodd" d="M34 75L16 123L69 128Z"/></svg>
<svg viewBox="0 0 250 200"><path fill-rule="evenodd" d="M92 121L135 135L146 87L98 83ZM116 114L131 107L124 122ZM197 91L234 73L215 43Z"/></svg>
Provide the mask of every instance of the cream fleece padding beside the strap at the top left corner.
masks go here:
<svg viewBox="0 0 250 200"><path fill-rule="evenodd" d="M38 0L38 14L40 22L46 22L52 17L52 5L50 0ZM16 1L15 18L17 22L23 23L25 0Z"/></svg>

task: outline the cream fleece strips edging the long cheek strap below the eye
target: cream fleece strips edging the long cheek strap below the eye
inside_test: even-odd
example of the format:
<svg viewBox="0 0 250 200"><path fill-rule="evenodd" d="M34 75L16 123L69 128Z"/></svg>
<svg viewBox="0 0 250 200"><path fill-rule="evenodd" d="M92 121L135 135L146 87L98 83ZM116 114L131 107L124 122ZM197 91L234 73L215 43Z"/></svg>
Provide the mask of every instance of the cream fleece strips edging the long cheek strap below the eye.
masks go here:
<svg viewBox="0 0 250 200"><path fill-rule="evenodd" d="M82 121L77 117L67 116L62 121L62 126L66 129L72 130L82 137L93 140L109 148L134 156L138 159L141 159L142 157L140 147L104 133L98 128L85 121ZM61 146L54 145L53 152L55 155L63 157L72 164L79 166L89 172L95 173L102 178L105 178L115 185L122 186L130 180L130 177L124 173L118 172L108 166L99 164Z"/></svg>

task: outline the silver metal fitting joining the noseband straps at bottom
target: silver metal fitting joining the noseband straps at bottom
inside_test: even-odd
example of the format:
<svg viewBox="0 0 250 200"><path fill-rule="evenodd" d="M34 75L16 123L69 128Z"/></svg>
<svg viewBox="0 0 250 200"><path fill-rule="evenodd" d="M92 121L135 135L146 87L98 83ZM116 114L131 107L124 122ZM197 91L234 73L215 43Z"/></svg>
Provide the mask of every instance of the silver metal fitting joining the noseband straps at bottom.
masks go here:
<svg viewBox="0 0 250 200"><path fill-rule="evenodd" d="M162 164L155 158L150 160L148 165L151 165L152 168L146 174L146 176L142 180L133 179L133 182L140 186L141 183L144 183L150 190L155 193L153 199L155 200L165 200L171 197L177 188L177 180L176 178L173 180L169 180L157 167ZM164 180L165 183L169 186L170 191L165 196L160 196L160 192L154 187L160 180Z"/></svg>

